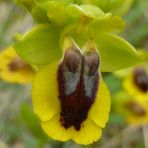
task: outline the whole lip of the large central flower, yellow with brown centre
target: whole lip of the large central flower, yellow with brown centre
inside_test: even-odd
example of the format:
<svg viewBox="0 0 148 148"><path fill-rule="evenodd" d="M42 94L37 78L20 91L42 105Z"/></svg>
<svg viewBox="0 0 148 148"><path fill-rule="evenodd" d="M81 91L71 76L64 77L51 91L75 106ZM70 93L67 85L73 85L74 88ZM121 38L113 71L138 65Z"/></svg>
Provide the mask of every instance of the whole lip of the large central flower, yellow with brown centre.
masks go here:
<svg viewBox="0 0 148 148"><path fill-rule="evenodd" d="M34 111L49 137L91 144L101 137L110 110L99 55L92 42L80 51L70 38L63 49L62 60L43 68L34 80Z"/></svg>

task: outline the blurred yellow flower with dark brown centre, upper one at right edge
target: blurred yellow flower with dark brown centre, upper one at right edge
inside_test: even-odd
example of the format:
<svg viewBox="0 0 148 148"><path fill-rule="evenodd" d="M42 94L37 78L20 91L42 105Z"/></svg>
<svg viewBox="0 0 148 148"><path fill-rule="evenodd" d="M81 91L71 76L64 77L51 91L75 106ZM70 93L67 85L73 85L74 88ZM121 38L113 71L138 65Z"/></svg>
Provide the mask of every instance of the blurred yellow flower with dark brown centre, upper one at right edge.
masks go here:
<svg viewBox="0 0 148 148"><path fill-rule="evenodd" d="M129 95L148 98L148 73L143 67L135 68L123 85Z"/></svg>

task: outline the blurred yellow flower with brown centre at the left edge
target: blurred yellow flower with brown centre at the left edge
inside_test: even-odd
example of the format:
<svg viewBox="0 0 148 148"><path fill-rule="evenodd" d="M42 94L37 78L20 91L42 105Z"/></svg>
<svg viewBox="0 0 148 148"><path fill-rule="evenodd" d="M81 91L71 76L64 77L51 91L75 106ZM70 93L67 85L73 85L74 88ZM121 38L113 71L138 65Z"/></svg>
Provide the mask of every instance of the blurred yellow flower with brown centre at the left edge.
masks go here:
<svg viewBox="0 0 148 148"><path fill-rule="evenodd" d="M35 76L32 67L22 61L12 47L0 53L0 62L0 77L7 82L30 83Z"/></svg>

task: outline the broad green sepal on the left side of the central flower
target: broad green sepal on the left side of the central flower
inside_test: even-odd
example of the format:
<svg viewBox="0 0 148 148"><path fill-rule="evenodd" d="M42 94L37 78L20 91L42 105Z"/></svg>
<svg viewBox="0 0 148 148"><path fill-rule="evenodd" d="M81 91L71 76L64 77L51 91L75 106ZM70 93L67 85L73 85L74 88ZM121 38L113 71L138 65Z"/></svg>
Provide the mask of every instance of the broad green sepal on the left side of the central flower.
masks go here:
<svg viewBox="0 0 148 148"><path fill-rule="evenodd" d="M42 24L28 31L14 49L28 63L41 66L61 57L58 41L59 31L49 24Z"/></svg>

